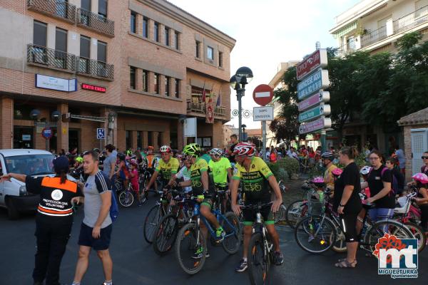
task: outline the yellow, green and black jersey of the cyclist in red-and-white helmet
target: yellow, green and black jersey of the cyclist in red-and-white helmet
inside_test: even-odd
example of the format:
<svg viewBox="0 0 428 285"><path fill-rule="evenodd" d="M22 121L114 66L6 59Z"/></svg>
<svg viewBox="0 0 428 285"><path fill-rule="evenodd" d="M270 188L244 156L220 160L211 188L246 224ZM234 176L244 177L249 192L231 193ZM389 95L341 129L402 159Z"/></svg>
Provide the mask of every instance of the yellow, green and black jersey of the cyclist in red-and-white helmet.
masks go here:
<svg viewBox="0 0 428 285"><path fill-rule="evenodd" d="M251 159L249 171L240 164L237 164L233 170L233 179L243 182L245 202L270 201L270 187L267 179L272 175L272 171L260 157Z"/></svg>

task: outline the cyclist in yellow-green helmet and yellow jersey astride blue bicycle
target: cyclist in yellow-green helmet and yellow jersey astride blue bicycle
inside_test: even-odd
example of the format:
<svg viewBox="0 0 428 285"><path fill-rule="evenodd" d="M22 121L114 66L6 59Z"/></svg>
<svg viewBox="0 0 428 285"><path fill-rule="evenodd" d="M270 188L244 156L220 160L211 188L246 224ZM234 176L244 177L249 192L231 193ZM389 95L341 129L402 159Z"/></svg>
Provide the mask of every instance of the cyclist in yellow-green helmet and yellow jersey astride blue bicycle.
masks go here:
<svg viewBox="0 0 428 285"><path fill-rule="evenodd" d="M213 189L210 187L209 177L208 177L208 163L200 157L201 151L200 146L197 143L190 143L183 148L183 154L186 156L186 159L190 161L190 181L184 181L178 183L180 187L192 186L193 195L198 195L198 202L200 202L200 214L205 217L210 224L213 225L215 230L215 235L218 239L218 242L224 239L225 232L223 227L220 227L218 220L215 218L214 214L211 212L211 207L213 207L213 199L205 198L204 195L213 195ZM200 223L200 230L203 233L205 239L208 238L208 229L205 227L203 222ZM203 251L195 252L193 256L194 259L200 259L202 257ZM207 252L205 257L210 257L210 254Z"/></svg>

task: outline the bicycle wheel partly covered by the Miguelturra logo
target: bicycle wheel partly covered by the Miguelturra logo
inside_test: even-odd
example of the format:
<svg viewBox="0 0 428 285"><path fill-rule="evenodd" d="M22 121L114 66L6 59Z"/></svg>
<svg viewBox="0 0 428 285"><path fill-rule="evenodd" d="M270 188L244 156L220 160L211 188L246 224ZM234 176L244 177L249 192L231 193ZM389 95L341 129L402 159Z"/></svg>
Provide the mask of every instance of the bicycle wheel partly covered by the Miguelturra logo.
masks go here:
<svg viewBox="0 0 428 285"><path fill-rule="evenodd" d="M374 252L379 239L384 237L384 234L394 235L400 239L413 239L413 234L401 222L392 219L383 219L382 221L375 222L369 227L364 237L364 247L370 252Z"/></svg>

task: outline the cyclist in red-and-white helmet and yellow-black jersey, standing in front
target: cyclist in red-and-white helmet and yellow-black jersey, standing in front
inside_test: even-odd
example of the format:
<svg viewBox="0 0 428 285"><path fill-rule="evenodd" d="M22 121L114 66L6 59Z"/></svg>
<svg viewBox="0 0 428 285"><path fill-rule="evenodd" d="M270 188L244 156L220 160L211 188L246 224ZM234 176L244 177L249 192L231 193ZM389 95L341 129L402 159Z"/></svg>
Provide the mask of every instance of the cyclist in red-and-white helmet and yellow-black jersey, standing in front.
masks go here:
<svg viewBox="0 0 428 285"><path fill-rule="evenodd" d="M277 212L282 203L280 186L273 176L272 171L260 157L255 157L255 145L248 142L241 142L235 146L235 160L238 162L233 170L232 182L232 209L239 216L241 209L237 204L238 187L240 180L243 180L243 193L245 196L245 204L258 204L270 202L270 188L275 192L275 200L272 207L262 209L261 214L265 221L267 232L272 237L272 242L275 247L275 264L282 264L284 257L280 252L280 238L275 230L273 212ZM250 242L253 232L253 222L255 213L251 210L243 210L244 216L244 248L243 259L235 268L238 272L243 272L247 269L248 243Z"/></svg>

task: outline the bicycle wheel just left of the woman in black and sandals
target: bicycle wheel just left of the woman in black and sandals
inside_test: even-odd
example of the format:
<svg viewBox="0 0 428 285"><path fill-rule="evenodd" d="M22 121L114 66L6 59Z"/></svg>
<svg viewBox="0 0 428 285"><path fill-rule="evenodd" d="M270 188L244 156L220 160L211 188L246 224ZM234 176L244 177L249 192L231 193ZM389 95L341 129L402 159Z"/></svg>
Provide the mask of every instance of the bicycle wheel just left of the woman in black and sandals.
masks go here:
<svg viewBox="0 0 428 285"><path fill-rule="evenodd" d="M296 224L295 240L299 247L311 254L327 252L337 239L335 225L320 216L305 217Z"/></svg>

